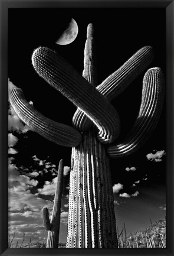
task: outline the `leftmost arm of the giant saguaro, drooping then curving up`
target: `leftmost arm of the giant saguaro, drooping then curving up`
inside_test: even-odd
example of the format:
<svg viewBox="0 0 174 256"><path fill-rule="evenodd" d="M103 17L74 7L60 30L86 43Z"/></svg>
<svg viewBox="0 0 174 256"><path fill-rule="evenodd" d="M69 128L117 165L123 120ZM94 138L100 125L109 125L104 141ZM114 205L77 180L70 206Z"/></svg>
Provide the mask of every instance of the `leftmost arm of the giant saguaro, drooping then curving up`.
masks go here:
<svg viewBox="0 0 174 256"><path fill-rule="evenodd" d="M19 118L42 137L65 147L76 147L80 144L80 132L46 118L27 102L21 89L11 89L9 101Z"/></svg>

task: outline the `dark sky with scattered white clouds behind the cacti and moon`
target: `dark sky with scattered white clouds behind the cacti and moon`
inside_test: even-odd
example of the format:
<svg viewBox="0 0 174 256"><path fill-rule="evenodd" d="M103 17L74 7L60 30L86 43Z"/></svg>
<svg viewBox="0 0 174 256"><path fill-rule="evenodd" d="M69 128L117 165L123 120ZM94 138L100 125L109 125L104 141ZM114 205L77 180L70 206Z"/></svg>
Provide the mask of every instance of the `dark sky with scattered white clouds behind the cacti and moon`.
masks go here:
<svg viewBox="0 0 174 256"><path fill-rule="evenodd" d="M90 14L90 15L89 15ZM74 18L78 24L75 41L55 44L65 24ZM138 22L137 22L138 21ZM22 88L25 97L48 118L71 125L75 106L51 88L32 67L32 51L47 46L83 71L87 25L93 22L96 35L99 81L117 70L139 48L150 45L155 59L149 67L160 66L165 73L165 11L157 9L10 9L9 87ZM139 111L143 75L112 101L119 113L122 133L129 132ZM32 132L9 105L9 234L16 229L14 244L25 232L25 244L46 242L41 209L50 215L57 168L64 159L60 242L67 231L69 167L71 148L60 147ZM114 206L119 231L145 229L152 221L165 219L165 108L159 124L139 152L110 160Z"/></svg>

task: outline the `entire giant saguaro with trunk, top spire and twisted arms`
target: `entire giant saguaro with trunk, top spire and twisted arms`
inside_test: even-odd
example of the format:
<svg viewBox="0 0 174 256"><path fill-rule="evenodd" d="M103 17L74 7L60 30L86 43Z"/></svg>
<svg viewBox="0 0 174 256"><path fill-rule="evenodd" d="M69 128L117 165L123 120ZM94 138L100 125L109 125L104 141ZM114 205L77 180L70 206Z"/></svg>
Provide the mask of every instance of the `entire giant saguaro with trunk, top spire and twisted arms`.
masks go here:
<svg viewBox="0 0 174 256"><path fill-rule="evenodd" d="M141 48L98 85L94 47L94 29L89 24L83 76L47 47L39 47L32 54L37 73L77 106L74 128L64 130L63 124L36 112L28 106L21 89L9 92L11 104L22 121L48 140L72 147L68 248L118 246L109 158L124 157L139 150L155 129L163 103L164 77L162 70L155 67L144 76L142 103L132 131L119 141L120 119L109 101L146 70L153 60L153 49Z"/></svg>

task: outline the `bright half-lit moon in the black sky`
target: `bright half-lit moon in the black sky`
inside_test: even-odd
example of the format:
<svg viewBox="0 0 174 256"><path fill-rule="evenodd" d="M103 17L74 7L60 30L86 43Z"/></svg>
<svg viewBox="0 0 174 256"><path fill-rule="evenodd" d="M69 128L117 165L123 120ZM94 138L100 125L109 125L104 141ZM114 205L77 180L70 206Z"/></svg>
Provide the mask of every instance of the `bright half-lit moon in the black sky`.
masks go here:
<svg viewBox="0 0 174 256"><path fill-rule="evenodd" d="M78 34L78 25L77 22L72 18L66 30L60 35L58 40L55 42L56 44L60 44L61 46L65 46L66 44L72 43Z"/></svg>

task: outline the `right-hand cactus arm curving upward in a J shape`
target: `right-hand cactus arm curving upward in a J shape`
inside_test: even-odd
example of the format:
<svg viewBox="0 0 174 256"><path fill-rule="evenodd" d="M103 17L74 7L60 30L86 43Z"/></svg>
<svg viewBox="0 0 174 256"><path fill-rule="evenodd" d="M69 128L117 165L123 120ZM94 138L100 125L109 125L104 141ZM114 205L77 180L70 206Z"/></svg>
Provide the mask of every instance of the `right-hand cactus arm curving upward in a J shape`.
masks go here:
<svg viewBox="0 0 174 256"><path fill-rule="evenodd" d="M143 79L142 103L132 131L125 140L108 147L111 158L124 157L139 150L154 131L164 99L165 79L162 70L147 70Z"/></svg>

